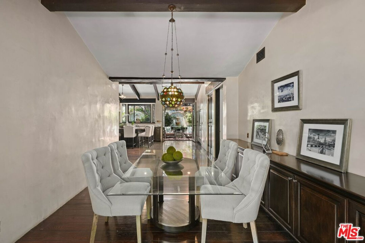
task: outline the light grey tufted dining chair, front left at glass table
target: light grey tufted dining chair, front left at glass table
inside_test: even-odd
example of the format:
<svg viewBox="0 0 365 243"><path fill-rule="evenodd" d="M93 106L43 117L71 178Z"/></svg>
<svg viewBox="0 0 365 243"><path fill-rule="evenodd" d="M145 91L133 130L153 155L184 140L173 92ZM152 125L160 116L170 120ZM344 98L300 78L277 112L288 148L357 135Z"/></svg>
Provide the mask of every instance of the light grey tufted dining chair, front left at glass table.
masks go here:
<svg viewBox="0 0 365 243"><path fill-rule="evenodd" d="M137 240L138 243L141 243L141 213L147 196L107 196L114 185L120 181L120 178L113 173L109 147L85 152L81 159L94 212L90 243L95 240L99 215L106 216L106 222L111 216L136 216ZM122 184L121 193L134 191L142 194L150 191L150 184L145 182L124 182Z"/></svg>

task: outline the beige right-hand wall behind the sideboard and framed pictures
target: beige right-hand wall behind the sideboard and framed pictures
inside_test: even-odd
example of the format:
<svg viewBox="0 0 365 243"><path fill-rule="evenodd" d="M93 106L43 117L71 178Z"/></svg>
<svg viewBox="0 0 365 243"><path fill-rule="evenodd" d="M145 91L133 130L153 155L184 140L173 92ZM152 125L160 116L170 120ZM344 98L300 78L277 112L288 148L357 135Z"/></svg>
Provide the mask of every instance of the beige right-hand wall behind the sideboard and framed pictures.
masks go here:
<svg viewBox="0 0 365 243"><path fill-rule="evenodd" d="M365 176L363 0L307 0L299 12L285 14L239 75L239 138L251 139L253 118L273 119L272 144L283 129L282 150L295 155L300 118L352 118L348 171ZM271 112L270 81L303 71L303 110ZM250 138L246 138L250 133Z"/></svg>

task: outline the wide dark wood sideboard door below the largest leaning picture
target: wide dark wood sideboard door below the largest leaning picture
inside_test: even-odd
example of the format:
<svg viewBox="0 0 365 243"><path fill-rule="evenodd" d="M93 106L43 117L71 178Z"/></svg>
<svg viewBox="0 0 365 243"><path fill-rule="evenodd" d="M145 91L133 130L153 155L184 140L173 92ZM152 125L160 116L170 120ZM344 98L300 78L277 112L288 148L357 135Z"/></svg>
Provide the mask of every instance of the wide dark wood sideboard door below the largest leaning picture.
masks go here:
<svg viewBox="0 0 365 243"><path fill-rule="evenodd" d="M346 222L347 200L323 187L295 176L295 229L301 243L340 243L340 223Z"/></svg>

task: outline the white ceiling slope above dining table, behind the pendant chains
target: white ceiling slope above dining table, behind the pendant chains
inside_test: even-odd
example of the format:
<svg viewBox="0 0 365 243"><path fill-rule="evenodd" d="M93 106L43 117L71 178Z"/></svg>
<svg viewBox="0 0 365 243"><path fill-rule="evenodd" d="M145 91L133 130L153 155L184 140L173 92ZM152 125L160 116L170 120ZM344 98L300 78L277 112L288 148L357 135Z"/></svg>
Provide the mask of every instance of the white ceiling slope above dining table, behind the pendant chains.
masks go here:
<svg viewBox="0 0 365 243"><path fill-rule="evenodd" d="M109 76L162 76L169 12L66 15ZM238 76L280 16L281 13L174 13L181 76ZM168 65L166 73L170 71ZM177 62L174 65L177 76ZM153 87L148 93L152 91Z"/></svg>

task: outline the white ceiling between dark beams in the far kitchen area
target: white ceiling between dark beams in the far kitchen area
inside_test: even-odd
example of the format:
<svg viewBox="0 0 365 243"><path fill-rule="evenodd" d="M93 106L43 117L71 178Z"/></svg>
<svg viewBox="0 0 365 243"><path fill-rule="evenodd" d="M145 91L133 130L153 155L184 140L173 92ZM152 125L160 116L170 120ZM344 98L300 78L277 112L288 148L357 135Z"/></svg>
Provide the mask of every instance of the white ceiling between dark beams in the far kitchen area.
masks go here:
<svg viewBox="0 0 365 243"><path fill-rule="evenodd" d="M174 83L177 87L180 87L179 83ZM165 86L169 86L169 82L166 82ZM184 91L185 97L187 96L195 96L196 90L198 89L199 85L194 84L182 84L181 89ZM153 85L135 85L138 93L141 95L141 98L144 97L155 97L155 90ZM162 85L157 85L157 90L161 92ZM122 94L122 85L119 85L119 93ZM129 85L124 85L123 93L128 98L135 98L135 94L133 93L131 87Z"/></svg>

